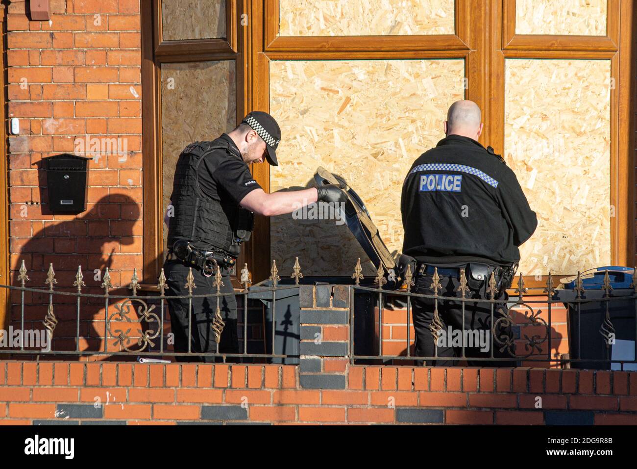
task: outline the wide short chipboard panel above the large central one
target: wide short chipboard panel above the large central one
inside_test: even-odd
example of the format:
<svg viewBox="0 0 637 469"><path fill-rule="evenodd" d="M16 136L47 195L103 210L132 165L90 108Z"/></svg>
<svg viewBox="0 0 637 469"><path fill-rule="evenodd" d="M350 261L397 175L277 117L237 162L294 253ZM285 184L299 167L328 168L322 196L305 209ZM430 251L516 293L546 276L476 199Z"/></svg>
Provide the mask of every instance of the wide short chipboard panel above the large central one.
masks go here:
<svg viewBox="0 0 637 469"><path fill-rule="evenodd" d="M454 34L454 0L279 0L280 36Z"/></svg>

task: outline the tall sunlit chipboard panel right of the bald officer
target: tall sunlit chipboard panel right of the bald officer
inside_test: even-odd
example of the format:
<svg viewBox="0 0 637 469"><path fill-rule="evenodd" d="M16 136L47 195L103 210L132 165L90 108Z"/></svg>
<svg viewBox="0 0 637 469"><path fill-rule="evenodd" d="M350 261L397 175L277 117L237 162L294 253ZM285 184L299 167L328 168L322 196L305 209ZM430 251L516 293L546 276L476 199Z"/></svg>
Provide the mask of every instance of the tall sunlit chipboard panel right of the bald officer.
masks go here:
<svg viewBox="0 0 637 469"><path fill-rule="evenodd" d="M505 153L539 226L520 272L610 264L610 61L507 59Z"/></svg>

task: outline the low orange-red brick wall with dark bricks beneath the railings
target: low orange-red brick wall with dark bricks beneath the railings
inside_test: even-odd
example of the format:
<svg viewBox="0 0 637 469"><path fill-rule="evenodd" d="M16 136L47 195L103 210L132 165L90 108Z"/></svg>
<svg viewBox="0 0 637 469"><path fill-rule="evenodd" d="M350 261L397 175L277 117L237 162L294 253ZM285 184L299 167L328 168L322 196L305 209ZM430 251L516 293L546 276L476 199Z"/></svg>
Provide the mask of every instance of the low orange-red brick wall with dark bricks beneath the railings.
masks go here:
<svg viewBox="0 0 637 469"><path fill-rule="evenodd" d="M323 365L0 362L0 424L637 424L637 372Z"/></svg>

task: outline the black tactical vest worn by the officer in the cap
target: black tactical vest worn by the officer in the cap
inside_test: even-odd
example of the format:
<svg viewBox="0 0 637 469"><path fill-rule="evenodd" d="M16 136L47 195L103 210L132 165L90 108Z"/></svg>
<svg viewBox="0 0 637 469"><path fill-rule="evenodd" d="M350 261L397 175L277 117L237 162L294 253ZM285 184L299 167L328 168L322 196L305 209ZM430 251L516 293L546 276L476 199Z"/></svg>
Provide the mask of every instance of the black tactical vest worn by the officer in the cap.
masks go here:
<svg viewBox="0 0 637 469"><path fill-rule="evenodd" d="M185 239L201 249L218 248L228 252L233 244L233 227L238 224L241 207L207 197L197 181L197 169L203 156L215 149L227 149L218 139L194 142L179 156L171 201L175 216L168 228L168 248L177 239Z"/></svg>

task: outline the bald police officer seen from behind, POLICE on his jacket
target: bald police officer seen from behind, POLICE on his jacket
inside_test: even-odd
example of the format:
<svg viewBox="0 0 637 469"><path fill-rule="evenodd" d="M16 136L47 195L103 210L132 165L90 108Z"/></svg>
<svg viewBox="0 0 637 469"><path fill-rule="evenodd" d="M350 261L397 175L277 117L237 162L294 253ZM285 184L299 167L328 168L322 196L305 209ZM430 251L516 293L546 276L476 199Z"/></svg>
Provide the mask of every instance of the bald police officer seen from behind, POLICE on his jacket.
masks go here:
<svg viewBox="0 0 637 469"><path fill-rule="evenodd" d="M513 364L471 358L488 358L491 352L494 357L511 357L512 346L506 345L513 339L510 324L497 320L506 315L506 288L520 260L518 246L531 237L538 221L513 171L491 147L478 143L482 127L476 103L453 103L445 121L446 137L413 163L403 184L403 253L415 258L412 291L433 295L437 267L438 295L459 298L464 269L466 297L475 300L465 303L463 324L461 301L438 300L436 314L434 299L414 299L416 355L441 357L427 365L457 366L458 361L445 358L462 356L462 339L469 366ZM490 298L492 273L495 299L502 301L494 308L494 331L490 304L479 301Z"/></svg>

